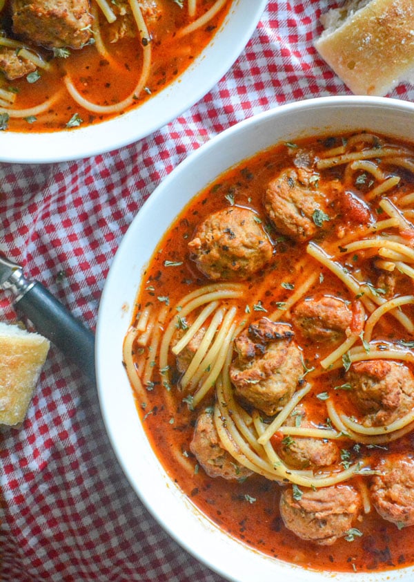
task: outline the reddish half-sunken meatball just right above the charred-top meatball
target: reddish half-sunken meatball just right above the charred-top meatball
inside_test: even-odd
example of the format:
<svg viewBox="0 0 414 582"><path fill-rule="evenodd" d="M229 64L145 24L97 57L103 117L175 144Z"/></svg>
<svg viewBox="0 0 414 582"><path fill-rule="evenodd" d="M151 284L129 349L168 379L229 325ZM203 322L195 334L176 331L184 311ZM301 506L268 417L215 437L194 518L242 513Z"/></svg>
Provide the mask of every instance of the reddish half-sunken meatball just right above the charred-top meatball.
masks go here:
<svg viewBox="0 0 414 582"><path fill-rule="evenodd" d="M305 337L315 341L337 341L351 326L353 313L343 299L324 295L299 303L293 317Z"/></svg>

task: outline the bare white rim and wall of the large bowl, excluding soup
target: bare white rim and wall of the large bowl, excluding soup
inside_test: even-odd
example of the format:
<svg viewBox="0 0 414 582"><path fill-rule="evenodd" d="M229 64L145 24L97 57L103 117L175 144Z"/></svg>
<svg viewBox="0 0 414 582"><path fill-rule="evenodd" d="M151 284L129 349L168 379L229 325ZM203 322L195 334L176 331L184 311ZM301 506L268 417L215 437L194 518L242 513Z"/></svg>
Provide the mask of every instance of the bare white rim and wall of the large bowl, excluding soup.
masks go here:
<svg viewBox="0 0 414 582"><path fill-rule="evenodd" d="M411 582L414 568L364 574L304 570L235 541L190 503L148 444L122 365L122 344L141 273L172 218L229 167L273 144L318 134L369 129L413 140L413 115L414 104L409 102L322 97L284 105L233 126L198 149L159 185L130 225L110 268L99 307L96 364L99 401L112 447L130 484L161 526L188 552L229 580Z"/></svg>

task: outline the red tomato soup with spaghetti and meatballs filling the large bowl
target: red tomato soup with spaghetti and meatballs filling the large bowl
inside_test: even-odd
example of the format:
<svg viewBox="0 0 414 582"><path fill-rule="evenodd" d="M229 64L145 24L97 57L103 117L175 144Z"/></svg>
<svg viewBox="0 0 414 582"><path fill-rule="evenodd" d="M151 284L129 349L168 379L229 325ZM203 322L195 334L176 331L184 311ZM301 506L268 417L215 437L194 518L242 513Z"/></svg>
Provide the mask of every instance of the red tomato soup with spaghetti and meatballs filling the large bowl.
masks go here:
<svg viewBox="0 0 414 582"><path fill-rule="evenodd" d="M230 536L316 570L414 563L414 146L280 144L202 191L124 363L155 454Z"/></svg>

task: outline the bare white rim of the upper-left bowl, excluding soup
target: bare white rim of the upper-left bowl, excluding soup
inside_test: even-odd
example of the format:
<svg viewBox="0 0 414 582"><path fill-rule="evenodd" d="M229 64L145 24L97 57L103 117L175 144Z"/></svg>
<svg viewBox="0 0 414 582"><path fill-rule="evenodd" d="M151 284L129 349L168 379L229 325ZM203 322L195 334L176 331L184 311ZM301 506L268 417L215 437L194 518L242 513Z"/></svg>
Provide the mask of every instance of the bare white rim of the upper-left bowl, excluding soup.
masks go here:
<svg viewBox="0 0 414 582"><path fill-rule="evenodd" d="M54 133L0 132L0 162L79 160L145 138L197 103L233 65L253 35L266 0L235 0L213 41L175 82L139 108L93 126Z"/></svg>

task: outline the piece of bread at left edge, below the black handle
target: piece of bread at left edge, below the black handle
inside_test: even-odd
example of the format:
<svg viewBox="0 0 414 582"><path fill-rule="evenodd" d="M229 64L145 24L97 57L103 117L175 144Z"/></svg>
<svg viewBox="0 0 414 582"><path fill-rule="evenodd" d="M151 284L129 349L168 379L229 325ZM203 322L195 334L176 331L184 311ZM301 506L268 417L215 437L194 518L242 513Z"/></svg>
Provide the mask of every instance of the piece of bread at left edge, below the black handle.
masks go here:
<svg viewBox="0 0 414 582"><path fill-rule="evenodd" d="M0 424L23 422L49 347L38 333L0 323Z"/></svg>

